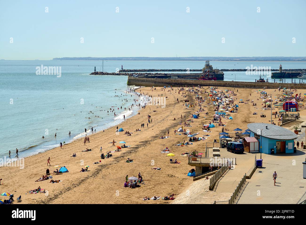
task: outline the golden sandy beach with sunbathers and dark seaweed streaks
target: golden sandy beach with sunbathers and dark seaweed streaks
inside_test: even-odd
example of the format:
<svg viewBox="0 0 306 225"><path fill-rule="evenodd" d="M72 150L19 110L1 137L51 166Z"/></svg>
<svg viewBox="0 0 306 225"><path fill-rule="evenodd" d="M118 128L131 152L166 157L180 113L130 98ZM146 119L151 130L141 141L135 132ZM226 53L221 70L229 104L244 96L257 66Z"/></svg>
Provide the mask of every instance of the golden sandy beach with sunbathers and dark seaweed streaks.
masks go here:
<svg viewBox="0 0 306 225"><path fill-rule="evenodd" d="M180 194L193 181L192 177L188 177L187 173L191 166L188 166L188 157L180 156L181 153L192 152L194 150L205 151L205 142L213 142L218 139L218 134L222 127L216 126L211 129L211 136L205 141L192 142L188 146L175 146L175 144L188 141L186 135L175 135L174 130L177 130L181 122L181 115L183 123L191 119L192 113L197 112L199 106L187 108L184 100L189 100L189 103L195 104L197 100L193 93L187 92L187 98L182 97L182 93L178 94L178 89L174 87L162 89L156 87L156 90L151 90L150 87L140 88L141 93L158 97L163 94L166 97L166 107L150 105L145 109L140 109L139 113L131 118L126 119L118 125L124 131L132 132L131 136L127 136L125 132L116 132L116 127L110 127L105 132L100 131L91 134L90 143L84 146L83 139L79 138L62 147L51 149L44 153L39 153L24 159L24 169L19 167L1 167L0 174L3 180L3 185L0 186L0 192L8 192L14 194L14 197L22 196L22 203L34 204L79 204L79 203L170 203L170 201L143 201L143 197L161 196L164 197L170 194ZM270 111L263 111L261 109L262 99L260 94L256 93L254 89L237 89L233 88L218 88L218 90L234 90L237 96L234 96L234 102L238 103L243 99L245 103L238 103L239 109L237 113L231 113L233 120L222 120L226 125L226 129L233 132L233 129L239 127L243 131L247 129L247 124L252 122L270 123ZM200 89L208 90L208 87ZM137 90L139 91L139 90ZM186 88L184 92L186 91ZM272 94L272 99L278 94L278 90L265 90L267 94ZM305 93L305 90L297 90L296 93ZM295 94L296 94L295 93ZM251 96L250 96L251 94ZM208 97L207 94L202 94L203 97ZM177 102L177 98L179 102ZM246 101L246 100L250 101ZM257 104L253 106L251 101ZM208 100L202 104L204 112L200 112L198 119L192 119L191 127L183 127L191 133L199 132L199 137L205 133L202 131L202 124L207 124L211 121L214 115L212 105L203 107ZM153 112L156 110L157 112ZM279 111L278 109L276 109ZM272 112L275 112L273 110ZM209 112L208 115L205 113ZM252 115L257 112L257 115ZM267 117L262 118L260 114L264 113ZM152 124L147 127L147 115L151 115ZM304 110L300 111L301 117L305 116ZM176 120L174 120L174 117ZM272 120L277 124L274 116ZM140 124L144 123L145 127L141 128ZM135 131L139 128L141 131ZM169 138L160 139L161 135L167 136L169 131ZM68 132L67 132L68 133ZM112 153L112 157L101 159L100 147L102 146L102 153L106 154L109 151L114 151L116 147L112 146L113 139L119 144L120 141L125 141L128 148L123 148L120 152ZM13 146L13 144L12 144ZM14 146L13 146L14 147ZM167 157L167 153L161 153L162 149L168 147L170 153L174 153L174 157ZM92 149L89 152L82 152L86 148ZM11 150L12 151L12 150ZM76 153L76 157L71 157ZM15 154L12 153L12 156ZM47 166L47 159L50 157L51 166ZM127 158L132 158L132 163L126 163ZM181 162L180 164L170 163L170 158ZM94 164L94 162L101 163ZM55 165L66 166L68 173L53 175L53 168ZM88 172L80 172L81 168L89 166ZM161 168L155 170L151 168ZM46 169L49 168L53 179L60 179L60 183L49 183L50 180L35 182L35 180L45 175ZM125 188L125 176L136 176L141 173L144 184L135 189ZM36 189L40 186L45 189L47 193L29 194L29 190ZM27 194L26 194L27 193ZM175 197L175 196L174 196ZM19 203L18 203L19 204Z"/></svg>

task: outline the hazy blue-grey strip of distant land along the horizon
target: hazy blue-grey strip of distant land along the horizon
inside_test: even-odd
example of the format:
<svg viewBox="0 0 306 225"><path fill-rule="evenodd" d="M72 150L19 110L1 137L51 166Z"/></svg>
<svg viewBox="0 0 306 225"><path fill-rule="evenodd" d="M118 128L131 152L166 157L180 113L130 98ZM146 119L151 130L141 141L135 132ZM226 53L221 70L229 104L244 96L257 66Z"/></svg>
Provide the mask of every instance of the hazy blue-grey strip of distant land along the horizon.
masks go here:
<svg viewBox="0 0 306 225"><path fill-rule="evenodd" d="M62 57L52 60L142 60L142 61L306 61L306 57Z"/></svg>

